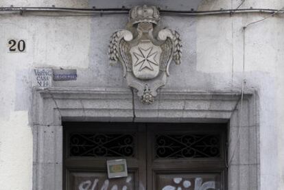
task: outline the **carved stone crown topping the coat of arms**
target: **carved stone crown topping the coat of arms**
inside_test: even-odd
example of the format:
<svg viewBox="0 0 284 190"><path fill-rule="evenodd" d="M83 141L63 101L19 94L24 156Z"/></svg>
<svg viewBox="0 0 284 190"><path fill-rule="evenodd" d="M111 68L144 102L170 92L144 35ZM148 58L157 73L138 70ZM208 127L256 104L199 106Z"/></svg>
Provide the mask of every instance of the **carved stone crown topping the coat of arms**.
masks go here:
<svg viewBox="0 0 284 190"><path fill-rule="evenodd" d="M160 21L160 13L155 6L139 5L130 10L129 21L132 25L141 22L157 24Z"/></svg>

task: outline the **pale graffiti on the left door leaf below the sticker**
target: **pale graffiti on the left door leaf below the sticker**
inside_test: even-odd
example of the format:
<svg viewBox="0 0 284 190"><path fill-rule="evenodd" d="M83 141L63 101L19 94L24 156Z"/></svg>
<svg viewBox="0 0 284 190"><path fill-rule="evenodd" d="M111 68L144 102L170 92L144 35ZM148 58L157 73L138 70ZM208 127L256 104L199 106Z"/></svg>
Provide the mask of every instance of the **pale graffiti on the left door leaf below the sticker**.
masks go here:
<svg viewBox="0 0 284 190"><path fill-rule="evenodd" d="M132 180L131 176L128 176L128 178L126 178L126 183L130 183ZM79 190L95 190L95 188L98 188L98 182L99 179L95 179L93 182L91 180L86 180L84 182L81 182L78 189ZM100 188L100 190L108 190L108 187L110 187L110 181L109 180L104 180L104 184L102 185L102 187ZM112 187L110 187L110 190L119 190L118 185L113 185ZM126 185L123 185L123 187L121 188L121 190L128 190L128 187Z"/></svg>

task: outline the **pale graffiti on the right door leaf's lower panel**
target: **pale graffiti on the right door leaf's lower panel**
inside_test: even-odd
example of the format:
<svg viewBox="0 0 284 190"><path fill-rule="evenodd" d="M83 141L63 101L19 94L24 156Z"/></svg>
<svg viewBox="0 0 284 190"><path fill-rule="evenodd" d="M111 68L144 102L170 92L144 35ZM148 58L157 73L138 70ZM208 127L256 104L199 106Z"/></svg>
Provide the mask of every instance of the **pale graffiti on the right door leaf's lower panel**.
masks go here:
<svg viewBox="0 0 284 190"><path fill-rule="evenodd" d="M174 178L173 180L174 180L174 183L178 187L167 185L167 186L163 187L162 190L182 190L182 188L187 189L187 188L191 187L191 182L189 180L184 180L183 182L182 182L182 178ZM209 181L209 182L204 182L202 184L202 178L196 178L194 190L207 190L207 189L215 189L215 182ZM215 190L218 190L218 189L215 189Z"/></svg>

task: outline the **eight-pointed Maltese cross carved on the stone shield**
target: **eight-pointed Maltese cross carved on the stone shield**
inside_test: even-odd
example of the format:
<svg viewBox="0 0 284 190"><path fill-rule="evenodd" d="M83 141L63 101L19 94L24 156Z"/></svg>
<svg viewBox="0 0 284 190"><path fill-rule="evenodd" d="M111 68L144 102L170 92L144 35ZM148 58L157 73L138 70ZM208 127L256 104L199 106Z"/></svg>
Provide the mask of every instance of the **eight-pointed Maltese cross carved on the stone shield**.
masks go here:
<svg viewBox="0 0 284 190"><path fill-rule="evenodd" d="M143 49L141 47L138 47L138 49L138 54L136 52L133 52L134 56L137 58L137 61L135 62L134 66L141 64L139 71L142 71L145 68L153 71L153 67L151 64L158 65L158 62L155 59L156 55L158 54L158 51L152 53L153 47L150 47L149 49Z"/></svg>

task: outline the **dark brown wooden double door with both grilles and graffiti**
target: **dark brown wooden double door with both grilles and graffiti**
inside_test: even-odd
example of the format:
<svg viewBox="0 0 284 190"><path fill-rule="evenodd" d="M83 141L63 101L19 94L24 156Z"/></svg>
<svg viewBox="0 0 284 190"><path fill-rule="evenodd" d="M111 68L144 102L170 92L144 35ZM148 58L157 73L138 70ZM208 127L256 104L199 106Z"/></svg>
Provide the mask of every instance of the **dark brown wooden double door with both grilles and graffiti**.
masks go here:
<svg viewBox="0 0 284 190"><path fill-rule="evenodd" d="M64 123L66 190L224 190L226 125ZM108 178L106 161L128 176Z"/></svg>

